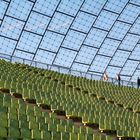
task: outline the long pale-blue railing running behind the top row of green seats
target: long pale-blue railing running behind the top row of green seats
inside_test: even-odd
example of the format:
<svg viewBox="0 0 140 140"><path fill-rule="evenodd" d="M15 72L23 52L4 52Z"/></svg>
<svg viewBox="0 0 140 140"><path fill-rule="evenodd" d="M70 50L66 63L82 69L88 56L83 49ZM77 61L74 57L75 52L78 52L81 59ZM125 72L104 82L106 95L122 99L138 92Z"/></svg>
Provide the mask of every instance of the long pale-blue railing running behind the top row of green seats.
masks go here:
<svg viewBox="0 0 140 140"><path fill-rule="evenodd" d="M59 73L65 73L65 74L71 74L74 76L85 77L85 78L92 79L92 80L103 80L103 76L101 76L101 75L76 71L76 70L72 70L72 69L69 69L67 67L62 67L62 66L58 66L58 65L49 65L46 63L42 63L42 62L31 61L28 59L15 57L15 56L3 54L3 53L0 53L0 59L5 59L5 60L10 61L10 62L19 62L22 64L28 64L30 66L43 68L43 69L47 69L47 70L53 70L53 71L57 71ZM115 78L109 78L107 82L113 83L115 85L118 84L118 82L116 81ZM121 80L120 83L122 86L137 87L136 82Z"/></svg>

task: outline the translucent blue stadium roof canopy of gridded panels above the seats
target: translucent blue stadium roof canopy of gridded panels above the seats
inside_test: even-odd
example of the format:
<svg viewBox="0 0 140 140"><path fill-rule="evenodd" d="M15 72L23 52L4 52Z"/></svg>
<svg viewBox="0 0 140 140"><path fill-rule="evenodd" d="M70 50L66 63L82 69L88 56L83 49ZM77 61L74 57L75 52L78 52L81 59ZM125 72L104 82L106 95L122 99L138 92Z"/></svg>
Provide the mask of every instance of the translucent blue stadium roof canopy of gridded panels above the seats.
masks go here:
<svg viewBox="0 0 140 140"><path fill-rule="evenodd" d="M0 0L0 56L136 81L140 0Z"/></svg>

